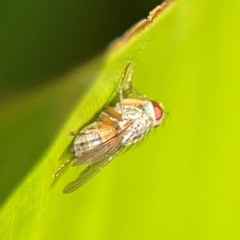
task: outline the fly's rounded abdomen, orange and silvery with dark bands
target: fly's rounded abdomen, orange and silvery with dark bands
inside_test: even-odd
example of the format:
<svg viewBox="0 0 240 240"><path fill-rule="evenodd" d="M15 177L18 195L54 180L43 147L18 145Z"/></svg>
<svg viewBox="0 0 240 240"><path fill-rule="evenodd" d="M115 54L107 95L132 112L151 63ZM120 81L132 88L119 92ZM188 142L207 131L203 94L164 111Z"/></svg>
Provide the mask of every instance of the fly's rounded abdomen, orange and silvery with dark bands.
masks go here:
<svg viewBox="0 0 240 240"><path fill-rule="evenodd" d="M116 129L102 122L94 122L83 128L76 136L73 144L73 155L80 158L86 152L98 147L116 135Z"/></svg>

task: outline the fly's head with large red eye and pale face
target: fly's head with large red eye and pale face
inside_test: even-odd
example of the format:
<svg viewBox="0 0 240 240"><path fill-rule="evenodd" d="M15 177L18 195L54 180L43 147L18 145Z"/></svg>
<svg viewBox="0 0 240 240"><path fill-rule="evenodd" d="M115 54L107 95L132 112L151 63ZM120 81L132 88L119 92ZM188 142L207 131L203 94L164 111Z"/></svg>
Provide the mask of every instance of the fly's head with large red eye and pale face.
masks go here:
<svg viewBox="0 0 240 240"><path fill-rule="evenodd" d="M149 100L144 104L143 109L152 119L152 127L157 127L162 123L164 110L160 103Z"/></svg>

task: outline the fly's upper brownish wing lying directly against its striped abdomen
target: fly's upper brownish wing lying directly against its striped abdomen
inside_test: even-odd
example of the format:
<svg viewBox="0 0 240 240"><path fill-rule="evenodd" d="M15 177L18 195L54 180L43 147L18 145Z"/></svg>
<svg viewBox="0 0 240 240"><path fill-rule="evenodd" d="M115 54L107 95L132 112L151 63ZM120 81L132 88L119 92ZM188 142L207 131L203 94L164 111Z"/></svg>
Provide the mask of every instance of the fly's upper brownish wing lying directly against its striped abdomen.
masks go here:
<svg viewBox="0 0 240 240"><path fill-rule="evenodd" d="M113 155L121 146L121 141L123 134L128 130L129 126L132 124L133 120L130 120L126 127L117 133L114 137L103 142L99 146L93 148L92 150L84 153L81 158L77 159L72 166L79 166L85 163L100 162L107 156Z"/></svg>

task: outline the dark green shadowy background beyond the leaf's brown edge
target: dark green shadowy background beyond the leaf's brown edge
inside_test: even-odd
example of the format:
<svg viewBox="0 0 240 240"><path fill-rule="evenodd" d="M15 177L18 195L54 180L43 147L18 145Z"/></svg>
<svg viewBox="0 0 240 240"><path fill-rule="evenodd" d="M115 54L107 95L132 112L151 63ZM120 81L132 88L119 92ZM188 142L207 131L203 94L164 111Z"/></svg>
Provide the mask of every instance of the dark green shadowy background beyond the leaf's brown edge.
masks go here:
<svg viewBox="0 0 240 240"><path fill-rule="evenodd" d="M49 81L78 66L160 2L2 1L0 95Z"/></svg>

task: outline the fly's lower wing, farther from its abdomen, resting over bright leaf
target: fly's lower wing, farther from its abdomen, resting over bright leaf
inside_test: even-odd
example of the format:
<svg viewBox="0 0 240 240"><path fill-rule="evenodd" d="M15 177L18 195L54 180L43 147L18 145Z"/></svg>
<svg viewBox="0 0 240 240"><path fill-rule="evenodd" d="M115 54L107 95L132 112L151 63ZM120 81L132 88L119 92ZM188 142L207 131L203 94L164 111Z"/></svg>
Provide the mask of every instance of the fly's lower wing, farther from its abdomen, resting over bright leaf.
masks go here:
<svg viewBox="0 0 240 240"><path fill-rule="evenodd" d="M88 167L86 167L79 175L79 177L73 181L70 182L63 190L63 193L71 193L75 191L77 188L81 187L84 183L86 183L88 180L90 180L92 177L94 177L97 173L99 173L102 168L104 168L108 163L111 162L111 160L122 150L122 146L119 147L114 155L108 156L105 159L102 159L101 161L95 162L90 164Z"/></svg>

